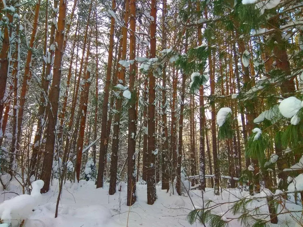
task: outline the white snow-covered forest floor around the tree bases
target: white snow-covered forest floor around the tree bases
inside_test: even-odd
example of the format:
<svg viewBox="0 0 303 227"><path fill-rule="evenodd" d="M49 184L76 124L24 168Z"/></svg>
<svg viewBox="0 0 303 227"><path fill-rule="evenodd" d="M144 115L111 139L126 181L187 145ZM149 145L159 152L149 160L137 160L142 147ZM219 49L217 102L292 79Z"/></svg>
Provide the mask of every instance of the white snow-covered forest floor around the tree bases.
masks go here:
<svg viewBox="0 0 303 227"><path fill-rule="evenodd" d="M12 181L11 192L22 194L20 185ZM201 191L190 191L189 196L172 195L157 186L157 196L154 205L147 204L147 186L137 184L137 202L129 208L126 206L126 186L115 195L108 195L108 184L104 188L96 189L93 181L81 180L79 183L66 182L59 203L58 218L55 216L56 200L58 196L58 180L53 180L49 192L42 195L43 199L32 215L25 222L25 227L117 227L117 226L202 226L197 222L190 225L186 216L193 209L202 207ZM2 193L2 194L1 194ZM215 213L224 214L228 210L228 202L235 201L236 197L247 196L248 192L239 189L223 190L220 196L214 196L213 189L206 189L204 200L211 199L213 203L225 203L214 210ZM6 191L0 192L0 202L15 197L16 194ZM192 200L192 202L191 202ZM257 202L257 201L256 201ZM262 206L266 199L251 204ZM266 207L266 206L263 206ZM129 212L130 210L130 212ZM264 212L268 212L264 210ZM235 218L231 213L223 217ZM222 217L222 218L223 218ZM208 226L208 225L206 225ZM240 223L234 219L229 226L238 227ZM272 225L279 226L279 225ZM295 226L295 225L293 225Z"/></svg>

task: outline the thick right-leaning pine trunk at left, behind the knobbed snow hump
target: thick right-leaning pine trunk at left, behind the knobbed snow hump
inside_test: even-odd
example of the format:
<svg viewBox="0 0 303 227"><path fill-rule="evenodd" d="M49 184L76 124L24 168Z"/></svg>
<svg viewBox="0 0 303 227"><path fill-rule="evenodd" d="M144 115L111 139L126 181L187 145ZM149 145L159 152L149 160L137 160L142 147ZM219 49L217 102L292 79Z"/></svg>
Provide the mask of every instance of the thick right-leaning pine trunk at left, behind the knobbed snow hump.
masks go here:
<svg viewBox="0 0 303 227"><path fill-rule="evenodd" d="M53 81L49 92L49 105L50 111L48 111L48 125L45 131L46 142L45 142L45 154L43 160L43 166L41 171L41 179L44 181L44 186L41 189L42 193L48 192L49 184L51 180L52 163L56 141L56 124L58 116L58 102L60 93L60 82L61 82L61 70L62 70L62 56L63 56L63 42L64 42L64 31L65 31L65 17L66 17L66 6L68 2L60 0L59 3L59 17L58 17L58 30L56 32L55 41L58 43L55 48L55 59L53 69ZM65 163L62 163L64 166Z"/></svg>

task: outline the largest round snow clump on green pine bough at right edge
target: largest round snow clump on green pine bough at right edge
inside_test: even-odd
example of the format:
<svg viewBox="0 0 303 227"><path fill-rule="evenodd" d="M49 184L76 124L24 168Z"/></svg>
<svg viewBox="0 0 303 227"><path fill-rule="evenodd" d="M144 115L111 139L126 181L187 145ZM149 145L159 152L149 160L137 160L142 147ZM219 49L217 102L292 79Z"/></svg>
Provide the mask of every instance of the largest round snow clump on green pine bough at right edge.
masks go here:
<svg viewBox="0 0 303 227"><path fill-rule="evenodd" d="M281 101L279 110L283 117L291 118L301 109L301 107L301 100L291 96Z"/></svg>

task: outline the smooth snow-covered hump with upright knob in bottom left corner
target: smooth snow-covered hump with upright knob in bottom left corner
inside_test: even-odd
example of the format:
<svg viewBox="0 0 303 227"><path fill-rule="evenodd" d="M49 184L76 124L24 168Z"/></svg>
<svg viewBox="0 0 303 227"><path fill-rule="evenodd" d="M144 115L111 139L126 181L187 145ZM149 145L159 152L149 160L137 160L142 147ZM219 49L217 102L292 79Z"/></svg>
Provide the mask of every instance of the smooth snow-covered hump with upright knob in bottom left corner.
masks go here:
<svg viewBox="0 0 303 227"><path fill-rule="evenodd" d="M32 183L31 195L20 195L2 202L0 204L0 219L6 224L11 224L12 227L19 226L39 205L42 198L40 190L43 185L43 180L37 180Z"/></svg>

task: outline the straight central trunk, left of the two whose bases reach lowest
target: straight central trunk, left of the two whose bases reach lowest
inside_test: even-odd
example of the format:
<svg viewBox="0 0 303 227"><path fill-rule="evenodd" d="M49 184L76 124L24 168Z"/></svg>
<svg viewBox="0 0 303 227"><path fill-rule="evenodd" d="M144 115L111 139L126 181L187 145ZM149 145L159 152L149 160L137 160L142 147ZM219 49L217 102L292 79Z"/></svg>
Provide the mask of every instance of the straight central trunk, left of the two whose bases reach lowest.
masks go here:
<svg viewBox="0 0 303 227"><path fill-rule="evenodd" d="M135 85L136 79L136 1L130 0L130 43L129 43L129 59L133 61L133 64L129 66L129 91L132 93L132 97L129 100L128 107L128 147L127 147L127 206L132 206L136 202L136 102L137 93Z"/></svg>

